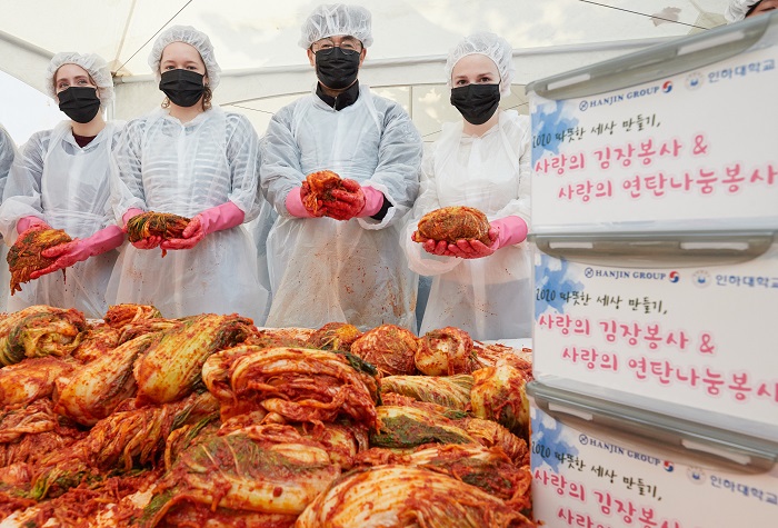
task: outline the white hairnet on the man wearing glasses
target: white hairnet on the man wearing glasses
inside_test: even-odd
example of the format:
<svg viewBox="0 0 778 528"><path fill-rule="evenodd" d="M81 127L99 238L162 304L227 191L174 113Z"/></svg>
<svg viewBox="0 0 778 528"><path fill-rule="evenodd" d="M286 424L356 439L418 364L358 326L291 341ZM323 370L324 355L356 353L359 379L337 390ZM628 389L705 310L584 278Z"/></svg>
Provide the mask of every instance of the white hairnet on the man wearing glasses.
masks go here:
<svg viewBox="0 0 778 528"><path fill-rule="evenodd" d="M372 44L370 11L361 6L330 3L319 6L302 24L299 44L310 48L317 40L336 34L348 34L362 42L365 48Z"/></svg>

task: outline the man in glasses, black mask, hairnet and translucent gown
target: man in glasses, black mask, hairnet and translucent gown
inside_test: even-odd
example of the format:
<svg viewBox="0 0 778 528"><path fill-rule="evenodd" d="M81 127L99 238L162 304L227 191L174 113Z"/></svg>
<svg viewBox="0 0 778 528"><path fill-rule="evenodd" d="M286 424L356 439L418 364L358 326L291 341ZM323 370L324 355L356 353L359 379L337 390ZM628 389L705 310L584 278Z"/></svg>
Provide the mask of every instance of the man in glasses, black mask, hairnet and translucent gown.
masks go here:
<svg viewBox="0 0 778 528"><path fill-rule="evenodd" d="M399 236L418 193L421 137L399 104L357 79L372 43L368 10L320 6L299 43L318 83L273 116L262 141L262 192L279 215L268 237L267 325L415 331L418 277ZM338 173L345 189L311 211L305 180L320 170Z"/></svg>

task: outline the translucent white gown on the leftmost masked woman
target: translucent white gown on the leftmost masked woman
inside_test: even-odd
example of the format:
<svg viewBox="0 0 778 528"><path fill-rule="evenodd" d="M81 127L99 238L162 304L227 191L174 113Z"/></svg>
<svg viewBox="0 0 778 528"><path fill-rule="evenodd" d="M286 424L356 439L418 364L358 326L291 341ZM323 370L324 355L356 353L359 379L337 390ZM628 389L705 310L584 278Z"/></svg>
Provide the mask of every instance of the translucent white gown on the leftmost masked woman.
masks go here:
<svg viewBox="0 0 778 528"><path fill-rule="evenodd" d="M81 148L73 139L72 122L34 133L11 168L0 207L0 231L8 245L18 238L17 221L38 217L70 237L84 239L113 223L110 179L116 173L112 151L123 122L109 121ZM32 305L76 308L90 318L102 318L113 299L106 296L117 259L110 250L61 271L21 285L9 298L8 309Z"/></svg>

